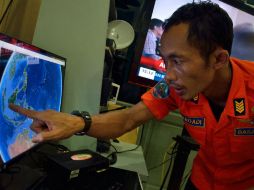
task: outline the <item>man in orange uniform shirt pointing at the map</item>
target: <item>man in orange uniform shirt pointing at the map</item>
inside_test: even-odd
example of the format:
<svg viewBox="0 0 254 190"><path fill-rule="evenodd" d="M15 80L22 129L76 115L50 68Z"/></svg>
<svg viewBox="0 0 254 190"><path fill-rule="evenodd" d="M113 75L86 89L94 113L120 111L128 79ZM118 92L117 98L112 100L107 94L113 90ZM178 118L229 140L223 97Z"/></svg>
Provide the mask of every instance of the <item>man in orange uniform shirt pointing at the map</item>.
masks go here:
<svg viewBox="0 0 254 190"><path fill-rule="evenodd" d="M232 39L232 21L219 6L186 4L167 20L161 38L168 97L159 98L151 89L130 109L92 116L90 129L89 118L10 107L34 119L32 128L38 133L34 142L67 138L81 130L114 138L179 109L184 126L200 144L187 189L251 189L254 65L229 57Z"/></svg>

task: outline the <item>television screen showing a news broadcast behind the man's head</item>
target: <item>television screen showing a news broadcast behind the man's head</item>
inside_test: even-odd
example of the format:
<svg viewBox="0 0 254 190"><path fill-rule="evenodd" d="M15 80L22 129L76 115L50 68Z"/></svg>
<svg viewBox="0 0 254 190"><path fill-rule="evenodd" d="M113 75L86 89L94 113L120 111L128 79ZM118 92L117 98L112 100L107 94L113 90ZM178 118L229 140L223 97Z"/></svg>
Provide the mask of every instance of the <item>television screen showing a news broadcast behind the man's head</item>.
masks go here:
<svg viewBox="0 0 254 190"><path fill-rule="evenodd" d="M192 0L156 0L153 2L150 24L146 37L137 41L136 57L134 58L130 83L151 87L165 76L165 64L159 54L160 36L164 22L180 6ZM239 1L212 0L227 11L234 24L234 41L231 56L253 60L254 54L254 11ZM227 3L226 3L227 2ZM152 1L149 3L152 3ZM148 6L149 7L149 6ZM146 10L147 11L147 10ZM142 45L140 45L142 44Z"/></svg>

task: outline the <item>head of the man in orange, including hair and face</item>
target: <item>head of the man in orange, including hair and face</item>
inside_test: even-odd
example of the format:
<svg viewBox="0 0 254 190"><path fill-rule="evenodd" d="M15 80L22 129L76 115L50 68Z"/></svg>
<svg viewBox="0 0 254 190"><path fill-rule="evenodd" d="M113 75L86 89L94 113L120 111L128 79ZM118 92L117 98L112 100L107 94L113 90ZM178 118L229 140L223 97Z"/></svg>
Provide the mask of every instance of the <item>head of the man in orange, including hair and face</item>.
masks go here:
<svg viewBox="0 0 254 190"><path fill-rule="evenodd" d="M179 96L212 96L221 69L229 68L232 38L232 21L216 4L189 3L173 13L164 27L161 54L168 65L166 79Z"/></svg>

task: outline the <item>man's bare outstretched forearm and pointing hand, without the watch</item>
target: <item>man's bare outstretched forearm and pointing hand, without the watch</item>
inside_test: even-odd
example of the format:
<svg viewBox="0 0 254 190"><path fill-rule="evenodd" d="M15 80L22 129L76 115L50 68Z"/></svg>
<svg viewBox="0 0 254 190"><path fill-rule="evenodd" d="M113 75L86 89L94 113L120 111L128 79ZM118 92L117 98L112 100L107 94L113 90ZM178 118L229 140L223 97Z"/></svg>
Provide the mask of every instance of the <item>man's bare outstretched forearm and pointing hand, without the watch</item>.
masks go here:
<svg viewBox="0 0 254 190"><path fill-rule="evenodd" d="M33 142L65 139L84 128L81 117L53 110L34 111L10 104L9 107L33 119L31 128L37 133ZM145 121L153 118L143 102L125 110L108 112L92 116L92 125L88 135L99 138L121 136Z"/></svg>

